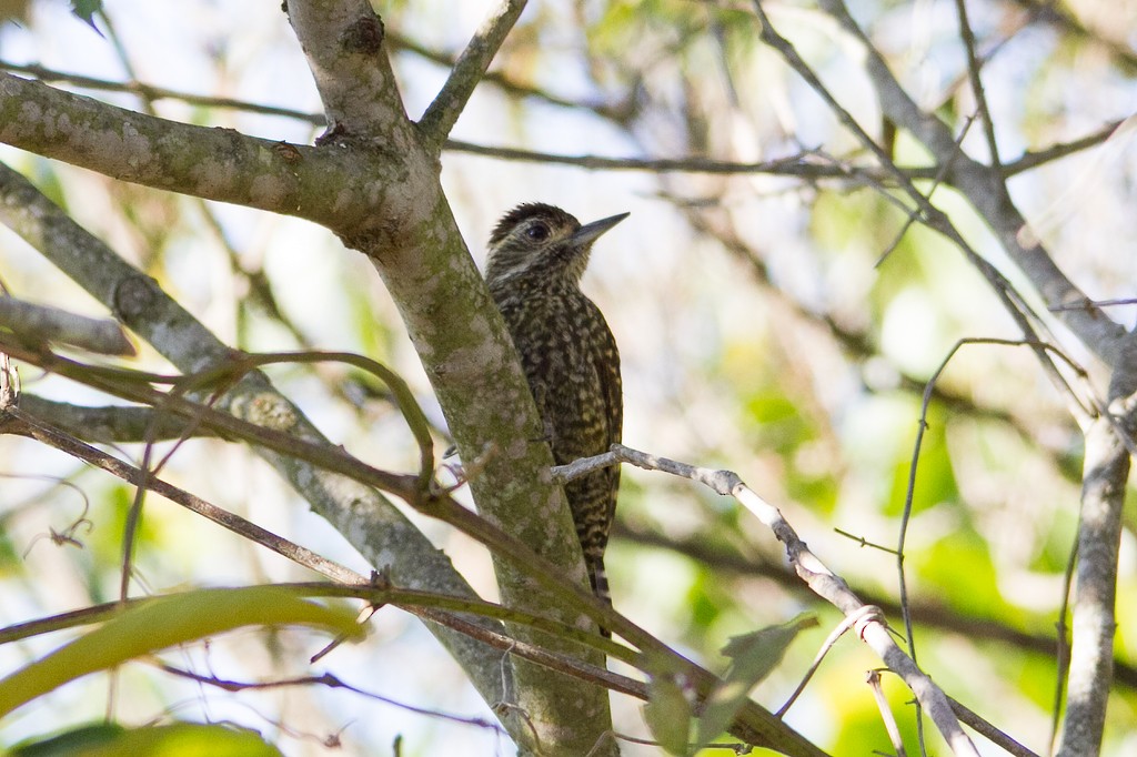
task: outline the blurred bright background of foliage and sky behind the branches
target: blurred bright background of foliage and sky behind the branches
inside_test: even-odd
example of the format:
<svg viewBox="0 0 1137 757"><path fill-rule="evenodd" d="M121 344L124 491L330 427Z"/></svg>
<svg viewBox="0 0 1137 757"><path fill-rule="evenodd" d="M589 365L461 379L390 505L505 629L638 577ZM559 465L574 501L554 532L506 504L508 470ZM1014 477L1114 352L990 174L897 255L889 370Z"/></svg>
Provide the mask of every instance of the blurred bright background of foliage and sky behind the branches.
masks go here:
<svg viewBox="0 0 1137 757"><path fill-rule="evenodd" d="M20 3L13 3L19 6ZM445 81L432 57L453 57L491 3L377 3L408 115ZM868 163L825 106L757 40L747 3L684 0L531 0L493 72L453 134L488 147L562 156L760 161L818 151ZM767 3L781 32L871 133L886 126L858 51L805 3ZM1023 150L1093 134L1126 118L1137 88L1132 3L1074 0L1089 30L1031 22L1030 2L969 3L1004 161ZM974 111L953 3L853 6L922 106L958 132ZM0 31L0 60L109 82L136 80L182 93L318 114L319 100L279 2L108 0L102 34L67 3L23 3ZM109 25L108 25L109 19ZM75 83L59 86L164 117L312 143L296 117L146 102ZM962 144L986 158L981 128ZM897 161L926 156L903 133ZM92 233L191 310L226 343L249 351L348 350L396 367L431 419L443 419L397 313L371 265L306 222L115 183L9 148L27 175ZM1135 152L1122 131L1103 145L1011 182L1015 201L1057 264L1090 297L1130 297L1137 280ZM862 597L897 601L898 539L924 382L961 338L1019 336L960 252L871 188L753 175L588 170L448 151L442 177L471 253L481 264L496 219L522 201L559 205L582 222L631 217L594 251L586 291L620 344L624 440L672 458L737 471L779 505L813 550ZM927 184L924 185L927 189ZM1028 301L1038 298L965 202L933 199ZM883 257L887 252L887 257ZM16 296L91 315L100 307L7 230L0 277ZM1131 324L1131 309L1111 310ZM1055 330L1090 371L1086 350ZM149 348L131 363L171 371ZM268 369L337 443L380 467L412 471L416 449L374 386L338 366ZM24 390L99 405L90 391L34 369ZM1077 527L1080 434L1060 394L1021 348L969 346L939 383L929 413L906 543L919 662L972 709L1036 751L1047 749L1059 676L1052 644ZM1104 388L1098 385L1103 391ZM447 441L440 435L439 448ZM160 446L160 451L171 447ZM121 450L138 461L142 450ZM123 519L133 491L66 456L0 438L0 623L8 625L117 596ZM164 475L362 573L373 566L313 515L248 449L196 440ZM467 498L468 499L468 498ZM81 516L81 543L52 543ZM485 598L496 598L482 548L409 513ZM1105 754L1137 750L1137 581L1132 509L1121 550L1115 696ZM841 530L850 536L841 535ZM794 690L839 615L788 576L779 546L730 500L663 474L629 469L607 559L619 609L712 669L736 634L816 613L821 626L790 649L755 691L775 709ZM181 510L147 499L135 593L197 585L310 580L312 574ZM898 624L898 615L889 608ZM176 717L257 729L287 755L513 754L491 710L410 616L387 608L370 639L309 667L325 639L248 631L165 659L239 681L316 669L374 694L316 685L230 694L138 663L108 689L98 675L10 716L0 743L110 712L125 723ZM0 647L0 671L55 649L58 635ZM844 639L788 722L835 754L888 750L864 685L880 662ZM885 679L914 744L910 693ZM384 701L389 700L389 701ZM420 708L412 710L409 708ZM613 697L615 727L649 738L640 702ZM932 737L932 748L944 751ZM331 741L342 747L337 750ZM984 742L984 754L1002 754ZM657 754L625 744L626 755Z"/></svg>

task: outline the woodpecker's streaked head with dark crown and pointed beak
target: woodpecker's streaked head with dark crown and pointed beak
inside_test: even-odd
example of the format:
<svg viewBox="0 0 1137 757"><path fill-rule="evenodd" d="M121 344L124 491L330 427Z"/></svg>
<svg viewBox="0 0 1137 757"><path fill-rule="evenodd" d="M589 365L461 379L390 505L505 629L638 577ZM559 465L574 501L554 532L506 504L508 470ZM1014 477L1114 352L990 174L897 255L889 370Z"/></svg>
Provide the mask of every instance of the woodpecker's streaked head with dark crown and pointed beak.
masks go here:
<svg viewBox="0 0 1137 757"><path fill-rule="evenodd" d="M626 213L581 226L572 215L543 202L526 202L505 214L490 234L485 280L491 284L530 276L580 281L592 242Z"/></svg>

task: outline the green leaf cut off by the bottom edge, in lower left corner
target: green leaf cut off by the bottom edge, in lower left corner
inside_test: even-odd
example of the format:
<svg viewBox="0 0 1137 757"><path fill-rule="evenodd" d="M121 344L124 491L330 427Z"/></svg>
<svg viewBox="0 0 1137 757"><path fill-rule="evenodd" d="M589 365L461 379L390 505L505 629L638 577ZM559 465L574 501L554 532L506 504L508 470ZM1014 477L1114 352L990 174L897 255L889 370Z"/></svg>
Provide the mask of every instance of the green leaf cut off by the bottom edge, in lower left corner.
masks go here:
<svg viewBox="0 0 1137 757"><path fill-rule="evenodd" d="M175 723L126 730L113 723L85 725L18 744L10 757L280 757L258 733L225 725Z"/></svg>

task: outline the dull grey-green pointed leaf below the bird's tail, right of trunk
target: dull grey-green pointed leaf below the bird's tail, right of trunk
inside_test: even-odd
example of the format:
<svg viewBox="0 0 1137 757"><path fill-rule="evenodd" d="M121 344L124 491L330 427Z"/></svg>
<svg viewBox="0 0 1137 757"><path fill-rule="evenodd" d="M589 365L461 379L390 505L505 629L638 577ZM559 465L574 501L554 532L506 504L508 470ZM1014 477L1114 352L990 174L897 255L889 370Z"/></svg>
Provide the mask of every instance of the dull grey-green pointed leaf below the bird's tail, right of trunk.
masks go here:
<svg viewBox="0 0 1137 757"><path fill-rule="evenodd" d="M703 715L695 724L695 748L702 749L727 730L750 696L750 690L781 662L794 638L818 625L813 615L798 615L781 625L732 638L722 654L731 658L727 679L707 697Z"/></svg>

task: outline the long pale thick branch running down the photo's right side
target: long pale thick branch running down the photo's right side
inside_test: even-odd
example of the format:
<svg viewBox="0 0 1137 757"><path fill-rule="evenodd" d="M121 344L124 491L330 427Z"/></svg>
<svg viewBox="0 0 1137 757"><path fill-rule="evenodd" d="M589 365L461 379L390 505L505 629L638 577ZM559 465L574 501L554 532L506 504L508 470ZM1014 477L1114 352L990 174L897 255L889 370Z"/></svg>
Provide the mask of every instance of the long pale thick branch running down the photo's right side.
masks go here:
<svg viewBox="0 0 1137 757"><path fill-rule="evenodd" d="M1134 336L1094 307L1054 264L1012 202L998 166L985 166L970 157L957 155L947 125L916 106L849 15L845 3L841 0L822 0L822 7L861 42L865 52L865 68L885 115L907 128L932 152L939 165L951 166L948 181L970 200L1044 301L1052 309L1070 305L1086 306L1055 311L1112 371L1111 400L1115 402L1117 398L1128 398L1132 393L1131 386L1120 392L1115 388L1119 383L1131 383L1131 377L1137 375ZM965 24L965 18L963 23ZM995 149L994 143L990 147ZM1113 402L1111 414L1117 411ZM1123 405L1128 405L1128 401ZM1081 607L1081 612L1076 609L1074 613L1074 648L1079 652L1072 654L1071 659L1070 706L1063 734L1063 754L1068 755L1096 754L1101 744L1105 692L1109 690L1112 663L1117 541L1120 538L1122 498L1118 492L1124 490L1129 455L1134 447L1128 430L1129 415L1126 407L1119 413L1120 423L1106 415L1089 424L1086 430L1086 479L1076 599L1076 608ZM1088 549L1088 557L1081 551L1082 548Z"/></svg>

